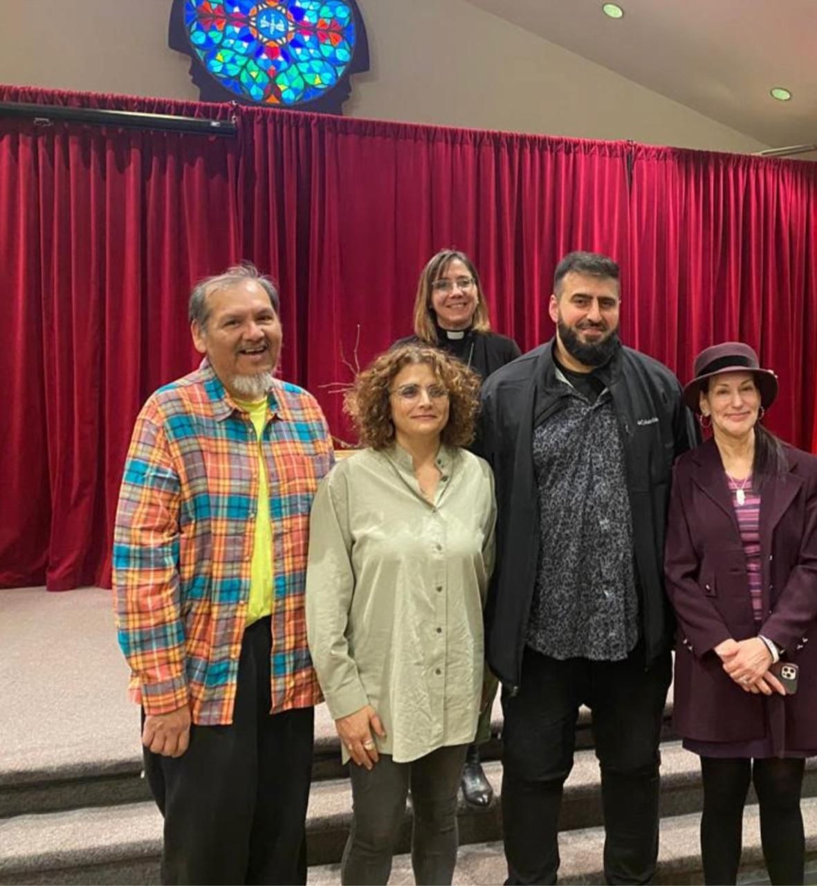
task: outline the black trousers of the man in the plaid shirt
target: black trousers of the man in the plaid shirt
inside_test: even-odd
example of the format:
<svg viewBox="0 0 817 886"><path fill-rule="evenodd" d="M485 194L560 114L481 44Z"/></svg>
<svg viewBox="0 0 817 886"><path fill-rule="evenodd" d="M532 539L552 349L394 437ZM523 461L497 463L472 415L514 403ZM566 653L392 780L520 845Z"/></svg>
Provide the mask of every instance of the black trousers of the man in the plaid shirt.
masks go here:
<svg viewBox="0 0 817 886"><path fill-rule="evenodd" d="M163 883L305 883L314 709L271 715L270 620L244 632L233 723L180 758L144 751L165 817Z"/></svg>

